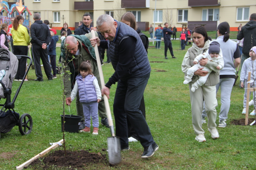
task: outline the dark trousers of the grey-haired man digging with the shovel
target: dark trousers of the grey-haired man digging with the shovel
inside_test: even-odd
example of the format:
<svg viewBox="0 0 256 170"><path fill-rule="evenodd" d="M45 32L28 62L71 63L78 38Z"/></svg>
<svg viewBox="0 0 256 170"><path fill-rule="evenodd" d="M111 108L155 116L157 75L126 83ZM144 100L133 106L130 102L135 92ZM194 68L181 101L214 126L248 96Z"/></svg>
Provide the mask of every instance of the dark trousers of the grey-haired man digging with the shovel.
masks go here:
<svg viewBox="0 0 256 170"><path fill-rule="evenodd" d="M140 100L150 75L118 80L113 104L116 136L120 137L121 148L128 145L127 118L135 130L140 144L145 148L154 143L146 119L139 110Z"/></svg>

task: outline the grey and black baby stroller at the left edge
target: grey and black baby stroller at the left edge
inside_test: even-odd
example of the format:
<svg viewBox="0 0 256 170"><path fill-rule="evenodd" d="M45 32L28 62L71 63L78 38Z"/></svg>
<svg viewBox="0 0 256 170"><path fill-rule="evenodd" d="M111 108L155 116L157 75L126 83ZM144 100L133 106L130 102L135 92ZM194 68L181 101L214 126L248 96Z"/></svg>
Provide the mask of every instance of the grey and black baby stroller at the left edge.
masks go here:
<svg viewBox="0 0 256 170"><path fill-rule="evenodd" d="M20 83L20 86L15 93L11 102L12 82L18 70L18 59L27 58L30 60L27 71ZM17 55L12 52L0 48L0 100L6 99L4 104L0 104L0 138L1 133L7 133L17 125L21 135L27 135L32 131L33 121L29 114L20 115L14 111L14 102L20 92L20 88L28 74L28 70L32 65L32 60L29 56Z"/></svg>

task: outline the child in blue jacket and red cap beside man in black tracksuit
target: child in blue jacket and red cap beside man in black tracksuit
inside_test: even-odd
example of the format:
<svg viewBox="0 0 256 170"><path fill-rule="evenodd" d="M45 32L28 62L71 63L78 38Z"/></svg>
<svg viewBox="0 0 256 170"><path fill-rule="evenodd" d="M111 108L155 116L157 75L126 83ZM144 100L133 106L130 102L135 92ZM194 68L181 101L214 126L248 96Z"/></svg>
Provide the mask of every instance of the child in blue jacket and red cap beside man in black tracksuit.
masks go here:
<svg viewBox="0 0 256 170"><path fill-rule="evenodd" d="M52 65L52 71L53 71L52 78L57 78L56 77L56 73L57 73L57 70L56 70L56 43L57 43L57 41L59 41L59 36L56 35L57 32L55 29L50 29L50 33L52 36L52 40L48 47L48 55L50 56L51 65Z"/></svg>

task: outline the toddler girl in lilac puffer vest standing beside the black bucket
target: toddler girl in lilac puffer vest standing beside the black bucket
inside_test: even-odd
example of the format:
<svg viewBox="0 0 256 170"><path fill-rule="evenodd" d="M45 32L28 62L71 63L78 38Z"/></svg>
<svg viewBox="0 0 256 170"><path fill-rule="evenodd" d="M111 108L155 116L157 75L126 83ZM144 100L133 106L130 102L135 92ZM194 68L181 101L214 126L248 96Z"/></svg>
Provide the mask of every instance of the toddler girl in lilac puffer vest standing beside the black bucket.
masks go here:
<svg viewBox="0 0 256 170"><path fill-rule="evenodd" d="M80 64L78 71L80 72L80 74L76 76L76 83L74 85L70 97L71 101L73 101L78 91L79 101L83 105L85 128L80 130L80 132L90 133L92 116L92 134L98 135L98 103L101 100L100 86L98 84L97 78L92 74L92 66L88 60Z"/></svg>

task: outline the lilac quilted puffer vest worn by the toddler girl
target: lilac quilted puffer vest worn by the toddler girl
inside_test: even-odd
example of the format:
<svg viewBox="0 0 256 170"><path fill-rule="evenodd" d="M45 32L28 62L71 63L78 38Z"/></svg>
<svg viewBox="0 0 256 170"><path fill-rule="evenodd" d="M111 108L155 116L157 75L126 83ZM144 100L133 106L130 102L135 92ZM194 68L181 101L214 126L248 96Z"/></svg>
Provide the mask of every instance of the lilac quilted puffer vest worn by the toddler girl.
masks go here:
<svg viewBox="0 0 256 170"><path fill-rule="evenodd" d="M95 78L95 76L88 74L87 76L85 76L83 81L83 77L81 76L81 74L78 74L76 76L80 102L91 103L93 101L97 101L96 90L93 86L93 80Z"/></svg>

